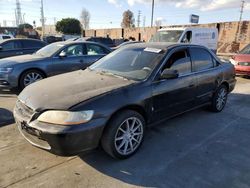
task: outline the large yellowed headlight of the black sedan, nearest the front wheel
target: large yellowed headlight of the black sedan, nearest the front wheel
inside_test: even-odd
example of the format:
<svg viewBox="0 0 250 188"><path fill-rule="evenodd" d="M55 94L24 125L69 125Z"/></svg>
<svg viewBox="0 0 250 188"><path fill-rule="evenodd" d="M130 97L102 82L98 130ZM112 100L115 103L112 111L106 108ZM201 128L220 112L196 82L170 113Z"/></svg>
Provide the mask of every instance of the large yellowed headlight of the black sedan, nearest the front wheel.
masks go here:
<svg viewBox="0 0 250 188"><path fill-rule="evenodd" d="M77 112L49 110L42 113L37 120L57 125L77 125L90 121L93 115L93 110Z"/></svg>

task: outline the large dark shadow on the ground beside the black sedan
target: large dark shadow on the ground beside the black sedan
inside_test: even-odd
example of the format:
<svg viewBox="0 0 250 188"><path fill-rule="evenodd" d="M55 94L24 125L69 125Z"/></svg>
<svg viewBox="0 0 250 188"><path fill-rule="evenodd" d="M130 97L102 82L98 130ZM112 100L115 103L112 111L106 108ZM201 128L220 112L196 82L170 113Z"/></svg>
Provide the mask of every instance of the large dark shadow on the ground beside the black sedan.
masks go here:
<svg viewBox="0 0 250 188"><path fill-rule="evenodd" d="M142 147L127 160L112 159L100 148L79 157L101 173L130 185L230 187L240 184L243 176L250 175L250 164L246 166L245 161L250 162L247 149L250 118L238 113L250 114L249 104L249 95L233 93L221 113L198 109L148 128ZM241 144L242 137L244 144ZM243 150L246 152L242 153ZM245 181L245 185L250 185L250 181Z"/></svg>

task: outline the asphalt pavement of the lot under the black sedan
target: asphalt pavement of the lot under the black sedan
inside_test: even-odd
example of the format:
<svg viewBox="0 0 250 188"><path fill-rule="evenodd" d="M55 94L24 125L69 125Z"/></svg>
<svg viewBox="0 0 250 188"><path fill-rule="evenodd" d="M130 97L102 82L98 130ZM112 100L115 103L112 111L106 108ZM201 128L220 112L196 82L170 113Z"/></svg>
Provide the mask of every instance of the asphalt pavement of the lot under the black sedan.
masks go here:
<svg viewBox="0 0 250 188"><path fill-rule="evenodd" d="M147 129L138 153L59 157L30 145L0 93L0 187L250 187L250 79L237 78L221 113L198 109Z"/></svg>

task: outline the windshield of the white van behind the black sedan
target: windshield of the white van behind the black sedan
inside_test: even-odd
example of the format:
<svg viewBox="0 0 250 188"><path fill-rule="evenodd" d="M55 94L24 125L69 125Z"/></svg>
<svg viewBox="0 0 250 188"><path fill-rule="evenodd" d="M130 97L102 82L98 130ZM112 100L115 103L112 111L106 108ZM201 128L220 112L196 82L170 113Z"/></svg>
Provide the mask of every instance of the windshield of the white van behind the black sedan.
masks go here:
<svg viewBox="0 0 250 188"><path fill-rule="evenodd" d="M158 31L150 42L178 42L183 30Z"/></svg>

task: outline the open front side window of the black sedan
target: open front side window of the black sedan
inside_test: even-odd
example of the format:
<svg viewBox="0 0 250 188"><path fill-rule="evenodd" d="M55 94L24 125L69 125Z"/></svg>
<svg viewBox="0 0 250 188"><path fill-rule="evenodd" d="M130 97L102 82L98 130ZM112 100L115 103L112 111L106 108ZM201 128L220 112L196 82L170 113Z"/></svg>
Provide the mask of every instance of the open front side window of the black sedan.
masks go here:
<svg viewBox="0 0 250 188"><path fill-rule="evenodd" d="M191 73L191 60L187 50L174 52L168 59L166 68L178 70L179 75Z"/></svg>

